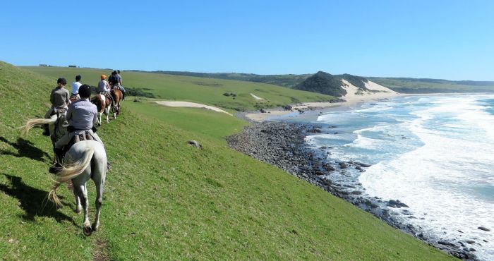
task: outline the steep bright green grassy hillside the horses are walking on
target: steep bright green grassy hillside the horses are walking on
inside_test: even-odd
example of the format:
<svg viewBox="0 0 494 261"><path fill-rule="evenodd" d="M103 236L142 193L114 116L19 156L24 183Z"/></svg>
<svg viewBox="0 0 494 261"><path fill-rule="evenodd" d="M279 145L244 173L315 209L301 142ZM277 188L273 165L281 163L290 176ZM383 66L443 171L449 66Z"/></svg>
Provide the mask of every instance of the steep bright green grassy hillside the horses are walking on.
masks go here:
<svg viewBox="0 0 494 261"><path fill-rule="evenodd" d="M17 129L44 114L53 86L53 76L0 62L2 259L452 260L318 187L230 150L224 136L245 122L150 102L124 102L121 117L98 130L113 169L100 231L85 237L69 190L59 189L65 207L43 207L52 185L51 142L41 129L28 138ZM92 218L94 185L88 189Z"/></svg>

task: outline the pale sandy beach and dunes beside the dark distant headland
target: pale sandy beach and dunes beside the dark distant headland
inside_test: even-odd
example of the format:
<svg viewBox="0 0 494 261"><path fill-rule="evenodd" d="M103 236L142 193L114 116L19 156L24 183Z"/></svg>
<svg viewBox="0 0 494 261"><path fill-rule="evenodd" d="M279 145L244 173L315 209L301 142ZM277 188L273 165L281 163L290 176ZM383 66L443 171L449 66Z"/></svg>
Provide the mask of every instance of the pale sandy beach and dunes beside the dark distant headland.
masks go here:
<svg viewBox="0 0 494 261"><path fill-rule="evenodd" d="M265 121L272 116L283 116L287 114L292 114L294 111L299 110L310 110L310 109L325 109L331 107L341 107L341 106L351 106L355 104L361 104L364 102L371 102L373 100L378 101L379 99L392 99L398 97L401 94L394 92L387 87L373 83L370 80L365 83L366 88L370 92L358 92L359 88L349 83L347 80L342 80L343 88L347 90L347 95L341 97L346 102L303 102L300 104L294 104L291 106L290 110L285 110L281 108L277 109L267 109L265 113L261 112L251 112L246 114L248 119L252 121Z"/></svg>

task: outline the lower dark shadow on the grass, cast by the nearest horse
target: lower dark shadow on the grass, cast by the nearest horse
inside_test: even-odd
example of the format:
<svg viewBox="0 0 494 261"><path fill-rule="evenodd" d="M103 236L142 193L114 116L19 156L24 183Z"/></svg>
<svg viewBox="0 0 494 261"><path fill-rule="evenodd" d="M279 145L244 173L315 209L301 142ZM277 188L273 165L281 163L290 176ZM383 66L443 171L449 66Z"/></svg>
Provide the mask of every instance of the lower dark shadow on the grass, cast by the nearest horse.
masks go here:
<svg viewBox="0 0 494 261"><path fill-rule="evenodd" d="M0 183L0 191L10 195L13 198L19 200L19 206L24 210L23 219L27 221L35 221L35 217L51 217L56 221L69 221L74 226L78 226L76 222L68 217L66 214L56 210L56 207L48 202L47 196L48 192L44 190L39 190L28 186L22 181L22 178L17 176L11 176L8 174L4 175L8 181L11 182L10 186L8 184ZM62 197L59 197L62 199ZM65 206L68 204L63 203Z"/></svg>

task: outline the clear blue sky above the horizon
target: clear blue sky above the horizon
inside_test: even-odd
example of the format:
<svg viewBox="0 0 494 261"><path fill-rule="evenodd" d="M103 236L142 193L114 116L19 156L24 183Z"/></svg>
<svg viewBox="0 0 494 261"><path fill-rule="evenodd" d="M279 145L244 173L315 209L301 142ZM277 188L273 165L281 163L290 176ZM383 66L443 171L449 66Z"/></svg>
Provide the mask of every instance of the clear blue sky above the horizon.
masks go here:
<svg viewBox="0 0 494 261"><path fill-rule="evenodd" d="M493 14L476 0L2 1L0 60L494 80Z"/></svg>

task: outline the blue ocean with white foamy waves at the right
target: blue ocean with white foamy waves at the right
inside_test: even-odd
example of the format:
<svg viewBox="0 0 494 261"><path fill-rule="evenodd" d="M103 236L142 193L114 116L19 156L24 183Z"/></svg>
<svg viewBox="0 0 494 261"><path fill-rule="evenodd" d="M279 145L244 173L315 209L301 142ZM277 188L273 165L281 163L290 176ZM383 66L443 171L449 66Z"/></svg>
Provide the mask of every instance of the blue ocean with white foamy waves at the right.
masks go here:
<svg viewBox="0 0 494 261"><path fill-rule="evenodd" d="M397 97L310 122L325 126L306 142L330 152L327 160L372 165L330 175L333 181L400 200L409 212L390 207L392 214L426 238L494 260L494 95Z"/></svg>

